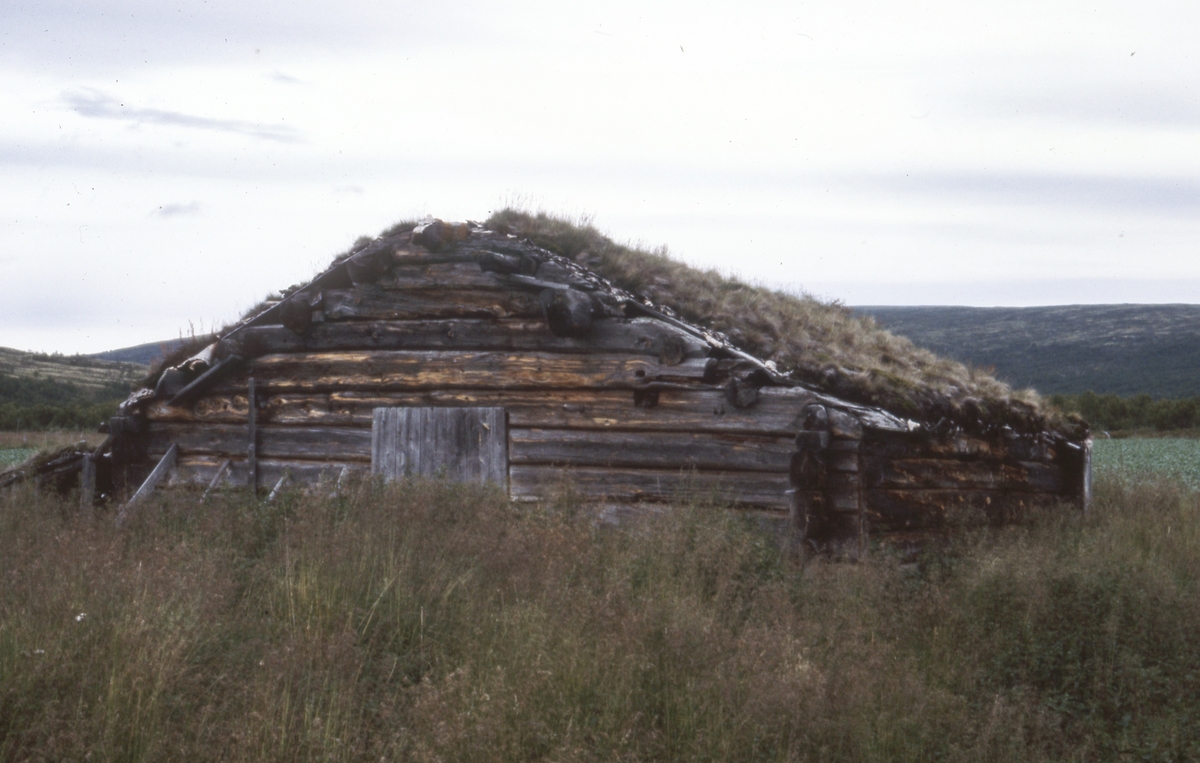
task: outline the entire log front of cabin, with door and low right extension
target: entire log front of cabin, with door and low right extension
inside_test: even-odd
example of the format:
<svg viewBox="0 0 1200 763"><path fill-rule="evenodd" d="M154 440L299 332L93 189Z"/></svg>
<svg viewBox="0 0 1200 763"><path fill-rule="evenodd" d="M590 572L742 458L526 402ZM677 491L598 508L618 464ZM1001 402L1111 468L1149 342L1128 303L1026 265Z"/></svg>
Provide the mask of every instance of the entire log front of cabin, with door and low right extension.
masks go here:
<svg viewBox="0 0 1200 763"><path fill-rule="evenodd" d="M620 507L700 494L851 554L1088 493L1086 437L971 434L839 399L470 223L376 240L151 382L109 422L102 489L373 471L518 500L570 483Z"/></svg>

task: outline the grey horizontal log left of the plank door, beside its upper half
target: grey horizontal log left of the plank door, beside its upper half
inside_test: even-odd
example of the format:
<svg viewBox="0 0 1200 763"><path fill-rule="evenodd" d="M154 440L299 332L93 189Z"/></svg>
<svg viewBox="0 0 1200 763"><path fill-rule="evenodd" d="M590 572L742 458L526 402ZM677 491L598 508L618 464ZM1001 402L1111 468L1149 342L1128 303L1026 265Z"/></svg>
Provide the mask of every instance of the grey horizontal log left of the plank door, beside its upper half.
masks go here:
<svg viewBox="0 0 1200 763"><path fill-rule="evenodd" d="M258 426L259 458L312 458L371 462L371 429ZM152 423L146 433L151 456L176 443L184 455L241 457L250 435L246 426Z"/></svg>

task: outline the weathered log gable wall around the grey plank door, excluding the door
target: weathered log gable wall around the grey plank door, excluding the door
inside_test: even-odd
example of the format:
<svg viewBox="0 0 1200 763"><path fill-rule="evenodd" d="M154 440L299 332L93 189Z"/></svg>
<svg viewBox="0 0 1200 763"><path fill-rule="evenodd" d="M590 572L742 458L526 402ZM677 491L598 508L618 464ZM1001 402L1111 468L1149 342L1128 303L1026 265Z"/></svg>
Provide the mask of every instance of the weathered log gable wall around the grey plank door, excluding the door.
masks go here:
<svg viewBox="0 0 1200 763"><path fill-rule="evenodd" d="M655 318L601 316L557 336L538 288L470 258L430 256L370 287L308 295L311 316L226 341L245 360L187 404L157 398L142 435L155 458L180 449L175 482L248 479L250 380L259 485L372 464L379 408L503 408L514 498L570 479L594 500L701 495L781 515L798 415L811 393L766 386L731 397L744 361ZM403 260L403 258L400 258ZM732 401L732 402L731 402Z"/></svg>

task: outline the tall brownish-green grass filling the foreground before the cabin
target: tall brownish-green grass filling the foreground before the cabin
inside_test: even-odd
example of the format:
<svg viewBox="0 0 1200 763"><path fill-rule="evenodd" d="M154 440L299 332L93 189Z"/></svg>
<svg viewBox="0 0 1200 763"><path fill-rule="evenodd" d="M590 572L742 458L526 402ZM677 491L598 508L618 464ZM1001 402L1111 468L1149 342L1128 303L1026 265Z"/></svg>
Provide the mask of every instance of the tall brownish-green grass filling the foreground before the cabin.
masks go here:
<svg viewBox="0 0 1200 763"><path fill-rule="evenodd" d="M0 509L0 758L1057 761L1200 755L1200 498L800 565L697 503L364 482Z"/></svg>

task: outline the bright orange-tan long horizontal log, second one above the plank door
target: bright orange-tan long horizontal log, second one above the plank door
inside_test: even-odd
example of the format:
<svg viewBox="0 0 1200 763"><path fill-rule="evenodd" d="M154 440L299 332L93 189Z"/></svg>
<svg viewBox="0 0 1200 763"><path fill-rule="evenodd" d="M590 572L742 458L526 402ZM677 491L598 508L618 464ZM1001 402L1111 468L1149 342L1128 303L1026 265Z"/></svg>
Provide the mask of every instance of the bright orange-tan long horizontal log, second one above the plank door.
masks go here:
<svg viewBox="0 0 1200 763"><path fill-rule="evenodd" d="M264 355L220 380L214 393L241 392L253 376L270 392L331 390L452 390L644 387L650 383L701 384L706 359L665 366L637 355L367 350ZM716 361L713 361L716 362Z"/></svg>

